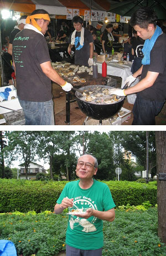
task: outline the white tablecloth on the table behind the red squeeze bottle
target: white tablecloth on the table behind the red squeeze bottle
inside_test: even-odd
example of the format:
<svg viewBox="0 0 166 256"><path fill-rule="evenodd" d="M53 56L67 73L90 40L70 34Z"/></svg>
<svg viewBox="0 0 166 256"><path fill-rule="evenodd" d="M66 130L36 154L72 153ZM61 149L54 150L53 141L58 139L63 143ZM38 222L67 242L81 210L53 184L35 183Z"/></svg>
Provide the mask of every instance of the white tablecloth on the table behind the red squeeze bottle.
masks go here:
<svg viewBox="0 0 166 256"><path fill-rule="evenodd" d="M102 73L102 62L97 61L98 73ZM118 63L108 62L107 63L107 75L120 76L122 77L121 88L125 85L126 77L132 75L131 66L132 63L121 65Z"/></svg>

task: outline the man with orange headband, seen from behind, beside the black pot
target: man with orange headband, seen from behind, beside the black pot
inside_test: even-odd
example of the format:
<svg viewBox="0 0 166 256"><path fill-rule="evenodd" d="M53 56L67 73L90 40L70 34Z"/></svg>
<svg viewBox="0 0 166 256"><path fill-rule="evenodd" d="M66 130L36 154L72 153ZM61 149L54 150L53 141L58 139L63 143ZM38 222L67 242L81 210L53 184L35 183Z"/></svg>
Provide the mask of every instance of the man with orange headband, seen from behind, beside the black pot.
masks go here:
<svg viewBox="0 0 166 256"><path fill-rule="evenodd" d="M27 17L23 31L13 41L17 95L24 110L25 125L55 124L51 81L58 83L64 91L72 88L51 67L44 38L49 22L49 13L36 9Z"/></svg>

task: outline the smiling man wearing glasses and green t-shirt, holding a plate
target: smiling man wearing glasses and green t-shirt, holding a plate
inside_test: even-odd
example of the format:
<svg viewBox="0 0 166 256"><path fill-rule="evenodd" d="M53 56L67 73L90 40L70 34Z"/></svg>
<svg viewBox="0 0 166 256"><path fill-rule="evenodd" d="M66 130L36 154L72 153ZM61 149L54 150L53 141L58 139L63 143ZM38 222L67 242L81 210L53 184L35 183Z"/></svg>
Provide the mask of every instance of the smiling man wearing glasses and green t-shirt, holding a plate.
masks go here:
<svg viewBox="0 0 166 256"><path fill-rule="evenodd" d="M97 166L94 156L80 156L76 166L79 180L65 185L55 205L55 214L66 208L71 213L66 232L66 256L101 256L102 220L115 219L115 203L110 189L105 183L93 179Z"/></svg>

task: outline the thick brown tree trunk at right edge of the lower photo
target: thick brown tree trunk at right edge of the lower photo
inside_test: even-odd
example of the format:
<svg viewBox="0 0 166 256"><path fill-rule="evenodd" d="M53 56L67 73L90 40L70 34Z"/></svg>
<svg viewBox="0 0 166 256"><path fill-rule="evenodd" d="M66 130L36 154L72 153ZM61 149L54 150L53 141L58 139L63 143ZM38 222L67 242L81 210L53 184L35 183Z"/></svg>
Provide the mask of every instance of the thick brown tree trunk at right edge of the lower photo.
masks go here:
<svg viewBox="0 0 166 256"><path fill-rule="evenodd" d="M159 173L166 175L166 131L155 132L157 155L157 204L158 204L158 236L166 243L166 180L159 180Z"/></svg>

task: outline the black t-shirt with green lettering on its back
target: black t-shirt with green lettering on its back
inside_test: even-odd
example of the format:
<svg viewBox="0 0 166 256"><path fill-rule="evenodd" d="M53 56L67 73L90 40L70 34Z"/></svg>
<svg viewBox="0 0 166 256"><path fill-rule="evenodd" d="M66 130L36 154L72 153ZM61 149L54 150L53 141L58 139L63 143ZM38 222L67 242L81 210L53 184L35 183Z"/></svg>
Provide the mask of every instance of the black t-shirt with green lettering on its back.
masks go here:
<svg viewBox="0 0 166 256"><path fill-rule="evenodd" d="M37 102L51 100L51 80L40 67L40 64L50 61L44 36L24 28L13 40L13 59L20 99Z"/></svg>

